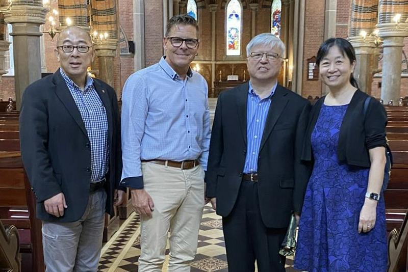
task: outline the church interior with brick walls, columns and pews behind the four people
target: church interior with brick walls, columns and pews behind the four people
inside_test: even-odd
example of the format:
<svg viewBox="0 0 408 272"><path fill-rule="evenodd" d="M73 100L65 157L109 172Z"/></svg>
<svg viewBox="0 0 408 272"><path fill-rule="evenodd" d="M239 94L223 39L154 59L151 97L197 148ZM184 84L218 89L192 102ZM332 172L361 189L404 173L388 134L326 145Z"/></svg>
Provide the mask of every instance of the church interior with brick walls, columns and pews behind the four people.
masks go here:
<svg viewBox="0 0 408 272"><path fill-rule="evenodd" d="M59 68L54 53L59 32L69 25L89 31L96 58L88 73L111 85L120 105L127 77L165 55L166 23L183 13L198 22L200 45L191 69L207 81L212 118L218 94L250 79L245 46L254 36L268 32L284 42L278 83L311 102L327 93L316 67L320 44L330 37L350 41L360 90L380 100L388 115L386 131L394 157L385 193L389 271L408 269L407 1L2 0L0 4L0 270L44 271L41 222L35 219L36 204L20 158L18 113L24 89ZM116 216L106 215L99 271L138 269L139 215L129 192L126 196ZM292 264L293 257L288 257L287 271L295 271ZM211 205L203 212L191 271L228 271L221 217Z"/></svg>

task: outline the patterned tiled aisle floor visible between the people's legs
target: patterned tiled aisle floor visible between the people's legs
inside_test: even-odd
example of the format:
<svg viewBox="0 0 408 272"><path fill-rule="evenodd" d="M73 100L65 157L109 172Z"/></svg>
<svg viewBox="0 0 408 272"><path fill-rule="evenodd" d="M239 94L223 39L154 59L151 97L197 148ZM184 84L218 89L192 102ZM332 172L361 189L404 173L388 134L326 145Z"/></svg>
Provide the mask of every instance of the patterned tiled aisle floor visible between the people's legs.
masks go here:
<svg viewBox="0 0 408 272"><path fill-rule="evenodd" d="M139 216L132 213L119 231L105 244L101 252L98 271L138 271L140 256ZM168 244L163 271L167 271ZM287 258L286 271L292 268L293 260ZM191 272L228 271L222 222L210 205L205 206L198 235L198 250L191 263Z"/></svg>

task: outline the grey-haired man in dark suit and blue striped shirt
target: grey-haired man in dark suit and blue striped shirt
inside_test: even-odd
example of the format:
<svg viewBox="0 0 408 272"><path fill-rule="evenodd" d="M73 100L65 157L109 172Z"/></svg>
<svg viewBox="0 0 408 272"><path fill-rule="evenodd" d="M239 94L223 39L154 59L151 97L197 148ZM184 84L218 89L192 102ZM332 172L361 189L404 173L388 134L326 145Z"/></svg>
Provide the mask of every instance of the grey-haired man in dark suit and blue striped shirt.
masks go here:
<svg viewBox="0 0 408 272"><path fill-rule="evenodd" d="M249 83L218 96L211 135L208 200L222 216L228 269L285 271L278 254L297 219L309 168L300 161L310 103L277 84L285 45L264 33L246 47Z"/></svg>

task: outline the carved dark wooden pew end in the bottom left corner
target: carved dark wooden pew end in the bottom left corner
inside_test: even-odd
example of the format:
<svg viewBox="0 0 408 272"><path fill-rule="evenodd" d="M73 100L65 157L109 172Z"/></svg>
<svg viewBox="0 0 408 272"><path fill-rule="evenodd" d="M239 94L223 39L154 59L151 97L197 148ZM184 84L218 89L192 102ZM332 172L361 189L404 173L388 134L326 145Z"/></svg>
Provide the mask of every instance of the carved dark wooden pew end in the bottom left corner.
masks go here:
<svg viewBox="0 0 408 272"><path fill-rule="evenodd" d="M0 221L0 270L21 271L20 241L18 230L14 226Z"/></svg>

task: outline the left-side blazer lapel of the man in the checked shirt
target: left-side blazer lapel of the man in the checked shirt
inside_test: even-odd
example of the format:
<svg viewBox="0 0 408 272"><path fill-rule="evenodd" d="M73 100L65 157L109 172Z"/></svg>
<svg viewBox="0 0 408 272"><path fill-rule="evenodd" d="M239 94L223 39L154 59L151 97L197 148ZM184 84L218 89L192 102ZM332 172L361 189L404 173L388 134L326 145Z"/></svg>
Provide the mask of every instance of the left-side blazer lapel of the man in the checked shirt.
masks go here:
<svg viewBox="0 0 408 272"><path fill-rule="evenodd" d="M59 97L61 102L64 104L64 106L67 108L69 114L72 116L75 122L77 122L82 132L84 132L84 134L88 137L88 133L86 132L85 124L84 124L84 121L82 120L80 111L78 110L77 104L75 104L75 101L72 98L71 92L69 91L64 81L64 78L60 74L59 69L54 74L54 83L56 84L54 87L55 87L55 92L57 96Z"/></svg>

